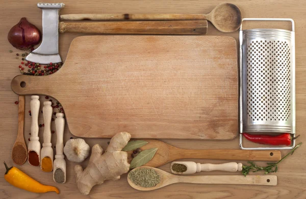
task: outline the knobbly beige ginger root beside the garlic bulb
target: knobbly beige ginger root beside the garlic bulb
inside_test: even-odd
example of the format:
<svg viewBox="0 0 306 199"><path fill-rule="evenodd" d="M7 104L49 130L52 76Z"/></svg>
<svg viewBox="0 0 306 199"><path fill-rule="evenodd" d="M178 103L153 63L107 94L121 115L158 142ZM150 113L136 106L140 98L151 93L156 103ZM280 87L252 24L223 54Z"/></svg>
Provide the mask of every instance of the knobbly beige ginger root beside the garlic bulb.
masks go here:
<svg viewBox="0 0 306 199"><path fill-rule="evenodd" d="M129 171L130 164L127 162L127 153L121 150L130 138L130 133L117 133L111 139L103 155L103 149L100 145L96 144L92 147L88 166L84 170L81 165L75 165L77 185L83 195L88 195L94 185L102 184L105 180L118 180L120 175Z"/></svg>

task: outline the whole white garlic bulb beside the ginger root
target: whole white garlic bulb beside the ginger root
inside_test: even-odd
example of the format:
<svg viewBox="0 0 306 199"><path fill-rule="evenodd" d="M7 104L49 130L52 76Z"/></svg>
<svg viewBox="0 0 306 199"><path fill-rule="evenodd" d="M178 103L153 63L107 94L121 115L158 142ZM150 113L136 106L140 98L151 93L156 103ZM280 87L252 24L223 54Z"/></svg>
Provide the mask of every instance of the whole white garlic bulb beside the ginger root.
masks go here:
<svg viewBox="0 0 306 199"><path fill-rule="evenodd" d="M84 139L69 139L64 147L64 153L71 162L83 162L89 156L89 145Z"/></svg>

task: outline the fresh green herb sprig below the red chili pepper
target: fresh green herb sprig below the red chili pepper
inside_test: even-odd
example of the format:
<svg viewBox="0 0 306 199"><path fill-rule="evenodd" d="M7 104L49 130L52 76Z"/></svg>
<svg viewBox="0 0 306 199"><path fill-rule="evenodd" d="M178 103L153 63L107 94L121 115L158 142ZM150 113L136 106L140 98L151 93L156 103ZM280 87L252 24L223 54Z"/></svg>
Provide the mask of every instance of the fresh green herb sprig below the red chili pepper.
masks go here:
<svg viewBox="0 0 306 199"><path fill-rule="evenodd" d="M279 160L278 162L268 162L267 166L258 166L256 164L254 164L251 161L248 161L248 163L250 165L243 165L242 166L242 174L244 176L248 175L250 171L254 172L258 172L260 170L264 170L265 174L269 174L269 173L276 173L277 172L277 164L279 162L282 162L286 157L288 157L289 155L292 155L293 152L302 145L302 143L298 144L297 146L295 146L285 157L283 157L281 160Z"/></svg>

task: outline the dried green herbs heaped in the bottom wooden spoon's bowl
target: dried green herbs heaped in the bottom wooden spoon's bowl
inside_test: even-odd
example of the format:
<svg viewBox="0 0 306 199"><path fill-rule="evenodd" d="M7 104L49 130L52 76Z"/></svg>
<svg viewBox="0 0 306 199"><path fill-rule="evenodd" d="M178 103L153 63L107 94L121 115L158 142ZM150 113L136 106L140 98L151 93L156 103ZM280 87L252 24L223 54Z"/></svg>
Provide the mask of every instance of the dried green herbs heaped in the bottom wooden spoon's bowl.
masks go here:
<svg viewBox="0 0 306 199"><path fill-rule="evenodd" d="M127 176L135 185L141 187L155 187L161 182L160 175L152 168L137 168Z"/></svg>

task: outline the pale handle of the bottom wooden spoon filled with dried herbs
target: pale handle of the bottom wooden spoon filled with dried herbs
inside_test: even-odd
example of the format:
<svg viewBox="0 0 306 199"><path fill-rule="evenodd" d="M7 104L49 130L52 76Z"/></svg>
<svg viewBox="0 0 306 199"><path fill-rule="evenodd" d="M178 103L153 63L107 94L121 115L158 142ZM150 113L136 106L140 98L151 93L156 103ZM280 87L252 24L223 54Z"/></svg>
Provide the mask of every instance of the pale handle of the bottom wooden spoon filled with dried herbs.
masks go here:
<svg viewBox="0 0 306 199"><path fill-rule="evenodd" d="M276 176L179 176L179 182L196 184L276 185Z"/></svg>

